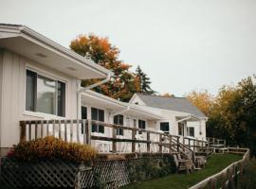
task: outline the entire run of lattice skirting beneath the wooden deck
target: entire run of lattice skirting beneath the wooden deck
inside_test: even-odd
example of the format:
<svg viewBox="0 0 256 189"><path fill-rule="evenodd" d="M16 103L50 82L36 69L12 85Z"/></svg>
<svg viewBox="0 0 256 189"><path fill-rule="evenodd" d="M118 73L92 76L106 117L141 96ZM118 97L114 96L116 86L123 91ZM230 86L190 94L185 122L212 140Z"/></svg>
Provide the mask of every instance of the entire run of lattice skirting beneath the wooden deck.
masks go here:
<svg viewBox="0 0 256 189"><path fill-rule="evenodd" d="M147 157L162 159L163 157ZM146 158L146 159L147 159ZM18 163L2 159L1 181L13 188L93 188L99 176L106 188L115 189L130 183L128 163L139 164L145 158L133 160L97 161L90 170L62 161Z"/></svg>

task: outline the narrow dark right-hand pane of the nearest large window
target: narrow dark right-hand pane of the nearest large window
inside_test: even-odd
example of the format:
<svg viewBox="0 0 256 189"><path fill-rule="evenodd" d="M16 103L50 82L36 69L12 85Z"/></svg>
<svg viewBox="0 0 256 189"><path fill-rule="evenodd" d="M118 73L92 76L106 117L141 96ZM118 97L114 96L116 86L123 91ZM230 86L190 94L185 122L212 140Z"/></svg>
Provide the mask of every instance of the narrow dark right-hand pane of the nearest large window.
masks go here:
<svg viewBox="0 0 256 189"><path fill-rule="evenodd" d="M58 116L65 116L65 84L58 81Z"/></svg>

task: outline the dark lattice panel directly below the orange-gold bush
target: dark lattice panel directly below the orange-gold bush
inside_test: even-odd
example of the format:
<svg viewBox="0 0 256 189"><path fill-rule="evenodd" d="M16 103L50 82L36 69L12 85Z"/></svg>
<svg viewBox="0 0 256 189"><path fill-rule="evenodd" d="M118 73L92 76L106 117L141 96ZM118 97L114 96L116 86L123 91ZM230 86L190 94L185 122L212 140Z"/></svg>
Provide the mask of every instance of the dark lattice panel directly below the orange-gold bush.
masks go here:
<svg viewBox="0 0 256 189"><path fill-rule="evenodd" d="M6 185L21 187L74 187L77 167L62 161L17 163L2 160L1 181Z"/></svg>

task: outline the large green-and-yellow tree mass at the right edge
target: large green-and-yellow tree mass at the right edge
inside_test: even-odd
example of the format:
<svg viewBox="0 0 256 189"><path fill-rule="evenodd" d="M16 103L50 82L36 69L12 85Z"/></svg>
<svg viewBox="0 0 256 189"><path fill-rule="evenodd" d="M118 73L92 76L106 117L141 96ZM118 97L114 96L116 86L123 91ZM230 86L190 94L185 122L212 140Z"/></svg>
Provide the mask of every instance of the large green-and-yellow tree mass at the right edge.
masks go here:
<svg viewBox="0 0 256 189"><path fill-rule="evenodd" d="M207 122L209 136L227 139L231 146L247 146L256 155L256 77L220 89Z"/></svg>

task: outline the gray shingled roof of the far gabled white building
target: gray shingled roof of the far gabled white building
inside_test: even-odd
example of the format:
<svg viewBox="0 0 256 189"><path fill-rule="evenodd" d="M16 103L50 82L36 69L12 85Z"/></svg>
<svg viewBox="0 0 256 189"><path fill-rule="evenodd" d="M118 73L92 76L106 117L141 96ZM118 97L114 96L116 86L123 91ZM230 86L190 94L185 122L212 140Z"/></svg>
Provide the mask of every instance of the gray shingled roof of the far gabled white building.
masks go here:
<svg viewBox="0 0 256 189"><path fill-rule="evenodd" d="M175 112L188 112L196 117L206 117L186 97L163 97L157 95L137 94L150 107L167 109Z"/></svg>

